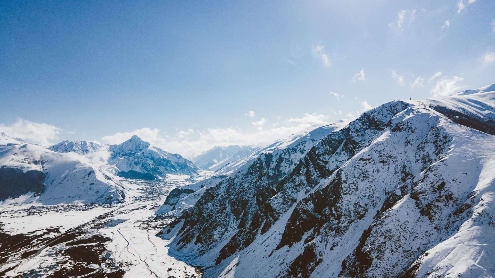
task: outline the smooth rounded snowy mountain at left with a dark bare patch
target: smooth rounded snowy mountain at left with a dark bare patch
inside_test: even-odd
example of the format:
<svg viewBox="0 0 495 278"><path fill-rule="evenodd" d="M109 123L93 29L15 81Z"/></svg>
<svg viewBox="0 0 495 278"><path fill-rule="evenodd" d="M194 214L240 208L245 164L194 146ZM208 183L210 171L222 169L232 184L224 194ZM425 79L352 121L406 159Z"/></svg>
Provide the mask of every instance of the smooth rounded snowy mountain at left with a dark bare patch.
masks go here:
<svg viewBox="0 0 495 278"><path fill-rule="evenodd" d="M18 201L44 205L121 202L122 185L81 158L1 134L0 201L24 196Z"/></svg>

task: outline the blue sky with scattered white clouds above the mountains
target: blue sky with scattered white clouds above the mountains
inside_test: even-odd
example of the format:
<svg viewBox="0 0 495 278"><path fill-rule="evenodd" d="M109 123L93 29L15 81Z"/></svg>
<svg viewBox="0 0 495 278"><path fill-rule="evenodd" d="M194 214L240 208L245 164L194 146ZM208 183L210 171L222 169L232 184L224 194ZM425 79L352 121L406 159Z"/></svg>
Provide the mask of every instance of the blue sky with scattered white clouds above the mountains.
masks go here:
<svg viewBox="0 0 495 278"><path fill-rule="evenodd" d="M0 131L185 156L495 82L495 1L0 2ZM253 111L253 113L249 113Z"/></svg>

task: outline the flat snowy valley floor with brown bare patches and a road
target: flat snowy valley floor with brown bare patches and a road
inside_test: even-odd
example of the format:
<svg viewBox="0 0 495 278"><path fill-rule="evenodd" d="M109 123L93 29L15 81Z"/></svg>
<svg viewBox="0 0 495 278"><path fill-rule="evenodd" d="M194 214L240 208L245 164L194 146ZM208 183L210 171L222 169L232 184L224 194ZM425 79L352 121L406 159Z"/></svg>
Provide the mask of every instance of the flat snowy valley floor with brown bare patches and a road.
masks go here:
<svg viewBox="0 0 495 278"><path fill-rule="evenodd" d="M123 180L133 192L123 204L2 204L0 277L201 277L155 236L173 219L154 212L186 177Z"/></svg>

